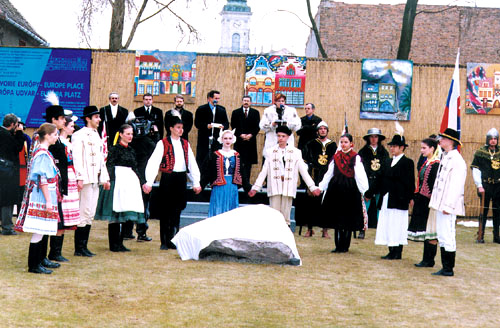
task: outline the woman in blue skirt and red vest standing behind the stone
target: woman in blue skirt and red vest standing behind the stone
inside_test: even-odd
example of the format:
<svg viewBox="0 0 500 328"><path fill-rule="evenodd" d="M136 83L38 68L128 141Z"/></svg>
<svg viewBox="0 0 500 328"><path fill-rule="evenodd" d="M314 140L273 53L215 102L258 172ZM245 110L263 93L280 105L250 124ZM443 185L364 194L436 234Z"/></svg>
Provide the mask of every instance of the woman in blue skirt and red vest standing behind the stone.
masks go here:
<svg viewBox="0 0 500 328"><path fill-rule="evenodd" d="M240 154L232 149L236 142L234 131L223 131L218 139L222 145L207 157L203 165L202 188L209 182L212 186L208 217L212 217L239 206L238 188L241 186Z"/></svg>

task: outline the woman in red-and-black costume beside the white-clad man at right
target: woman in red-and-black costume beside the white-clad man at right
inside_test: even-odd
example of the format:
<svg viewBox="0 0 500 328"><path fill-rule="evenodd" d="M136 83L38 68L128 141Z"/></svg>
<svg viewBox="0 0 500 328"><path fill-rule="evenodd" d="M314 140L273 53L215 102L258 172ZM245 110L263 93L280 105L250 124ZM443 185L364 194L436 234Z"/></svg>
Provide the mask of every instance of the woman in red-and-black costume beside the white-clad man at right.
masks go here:
<svg viewBox="0 0 500 328"><path fill-rule="evenodd" d="M420 152L423 160L419 160L417 189L413 198L413 212L408 226L408 239L424 242L424 255L416 267L434 266L437 250L435 215L429 218L429 201L439 167L440 148L435 138L422 140ZM431 222L428 222L430 220Z"/></svg>

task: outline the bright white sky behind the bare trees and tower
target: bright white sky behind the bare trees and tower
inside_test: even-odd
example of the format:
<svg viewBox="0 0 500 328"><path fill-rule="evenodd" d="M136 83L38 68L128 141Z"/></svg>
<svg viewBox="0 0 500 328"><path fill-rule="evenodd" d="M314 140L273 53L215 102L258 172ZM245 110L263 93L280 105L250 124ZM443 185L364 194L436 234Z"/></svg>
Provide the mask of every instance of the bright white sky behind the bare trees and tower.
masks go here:
<svg viewBox="0 0 500 328"><path fill-rule="evenodd" d="M107 2L100 0L101 2ZM91 42L82 42L77 28L82 0L10 0L35 31L51 47L107 49L111 10L95 16ZM166 2L166 0L163 0ZM344 3L398 4L405 0L344 0ZM136 3L142 3L137 0ZM177 0L172 8L199 31L199 40L189 40L177 28L178 20L170 13L160 15L139 25L131 50L194 51L217 53L221 43L222 7L227 0ZM320 0L311 0L313 15ZM247 0L253 12L250 27L250 51L268 52L286 48L295 55L304 55L310 33L305 0ZM467 5L500 7L500 0L420 0L419 4ZM155 11L149 1L143 17ZM132 17L127 16L125 43L131 28Z"/></svg>

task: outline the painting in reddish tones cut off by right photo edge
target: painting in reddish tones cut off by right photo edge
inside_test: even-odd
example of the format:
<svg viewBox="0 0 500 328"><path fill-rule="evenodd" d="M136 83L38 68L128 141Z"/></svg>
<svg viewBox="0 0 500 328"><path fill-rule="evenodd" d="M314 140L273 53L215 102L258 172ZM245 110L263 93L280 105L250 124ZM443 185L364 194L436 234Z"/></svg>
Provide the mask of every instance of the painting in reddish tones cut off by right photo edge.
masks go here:
<svg viewBox="0 0 500 328"><path fill-rule="evenodd" d="M467 63L465 113L500 114L500 64Z"/></svg>

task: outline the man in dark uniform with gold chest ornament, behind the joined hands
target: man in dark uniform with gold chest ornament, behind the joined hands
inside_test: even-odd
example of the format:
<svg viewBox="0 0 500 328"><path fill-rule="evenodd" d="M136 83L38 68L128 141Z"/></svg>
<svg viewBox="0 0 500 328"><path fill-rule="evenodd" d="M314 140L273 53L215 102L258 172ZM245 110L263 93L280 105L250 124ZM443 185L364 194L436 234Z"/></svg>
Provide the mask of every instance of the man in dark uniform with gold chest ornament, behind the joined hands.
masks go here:
<svg viewBox="0 0 500 328"><path fill-rule="evenodd" d="M317 136L316 139L309 141L302 151L302 158L309 167L309 174L316 185L323 180L323 176L328 171L328 164L337 151L335 141L328 138L328 124L326 122L321 121L317 125ZM314 234L313 226L316 225L323 228L323 238L330 238L320 208L320 197L312 197L307 193L297 195L295 221L301 227L303 224L307 224L307 232L304 237L312 237Z"/></svg>

